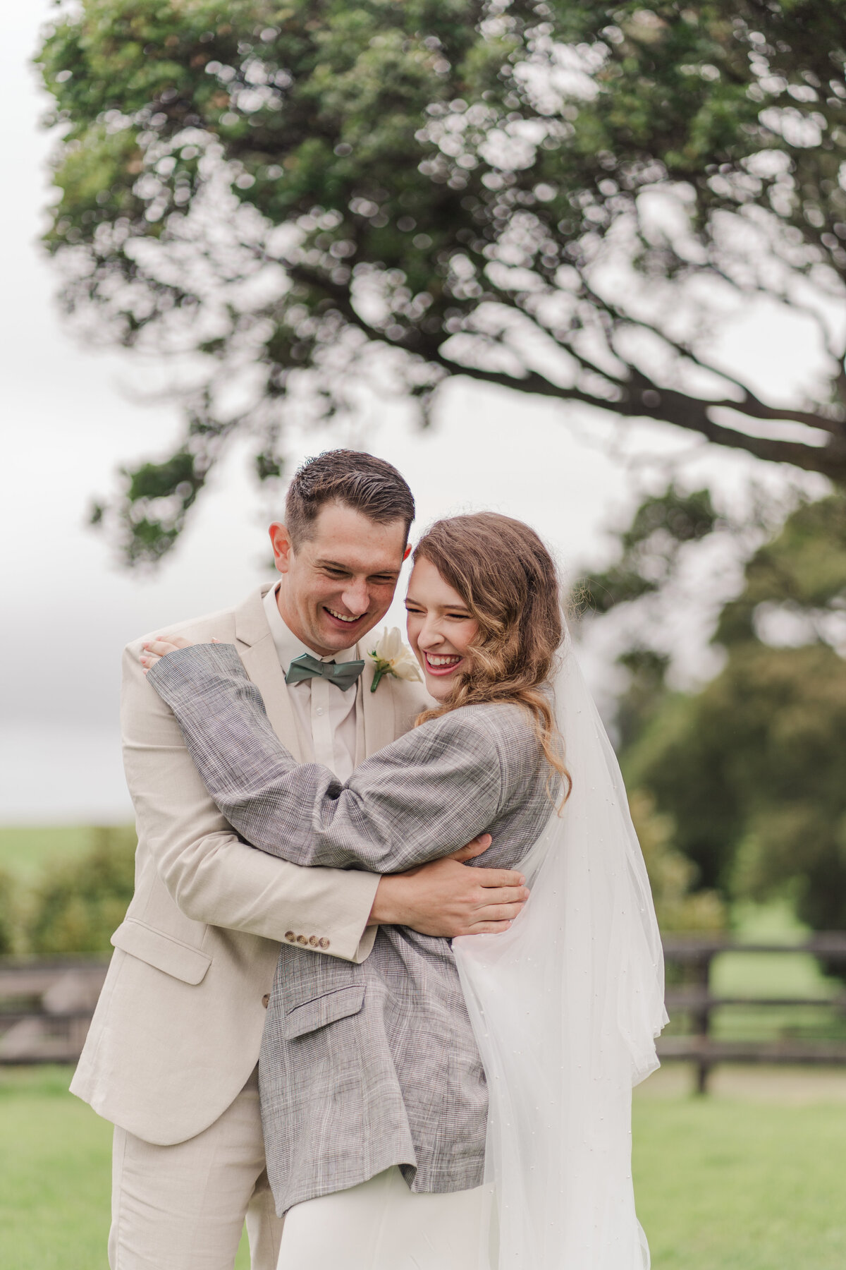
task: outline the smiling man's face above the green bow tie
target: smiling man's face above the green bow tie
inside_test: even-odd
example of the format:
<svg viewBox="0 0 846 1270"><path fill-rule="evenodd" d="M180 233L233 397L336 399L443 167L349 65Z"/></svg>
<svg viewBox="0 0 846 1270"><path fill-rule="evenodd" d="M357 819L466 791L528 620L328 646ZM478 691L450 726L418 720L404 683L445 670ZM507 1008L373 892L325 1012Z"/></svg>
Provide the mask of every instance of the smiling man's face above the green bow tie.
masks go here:
<svg viewBox="0 0 846 1270"><path fill-rule="evenodd" d="M284 525L270 526L283 575L277 602L297 639L331 657L355 644L391 607L406 554L406 525L377 525L342 503L326 503L311 531L294 549Z"/></svg>

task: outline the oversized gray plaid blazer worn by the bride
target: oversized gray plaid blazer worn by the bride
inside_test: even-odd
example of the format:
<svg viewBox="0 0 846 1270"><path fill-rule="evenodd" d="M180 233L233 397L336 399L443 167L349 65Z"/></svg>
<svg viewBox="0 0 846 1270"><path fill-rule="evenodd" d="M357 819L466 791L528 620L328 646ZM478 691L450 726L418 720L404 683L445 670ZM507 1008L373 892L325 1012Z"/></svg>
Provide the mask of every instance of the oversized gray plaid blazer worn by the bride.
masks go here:
<svg viewBox="0 0 846 1270"><path fill-rule="evenodd" d="M516 705L433 719L341 784L292 758L230 645L169 653L148 682L227 819L294 864L398 872L487 829L473 864L511 869L552 812L549 768ZM482 1182L485 1072L449 940L383 926L360 965L283 945L259 1082L280 1214L391 1165L415 1191Z"/></svg>

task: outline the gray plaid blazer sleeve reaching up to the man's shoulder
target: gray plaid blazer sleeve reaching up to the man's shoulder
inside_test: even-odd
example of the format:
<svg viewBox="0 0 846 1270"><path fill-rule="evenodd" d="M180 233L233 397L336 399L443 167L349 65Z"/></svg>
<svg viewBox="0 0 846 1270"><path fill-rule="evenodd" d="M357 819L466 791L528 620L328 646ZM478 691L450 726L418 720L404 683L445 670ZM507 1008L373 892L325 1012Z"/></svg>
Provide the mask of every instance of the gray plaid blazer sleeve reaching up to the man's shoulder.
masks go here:
<svg viewBox="0 0 846 1270"><path fill-rule="evenodd" d="M294 864L392 872L449 855L520 796L526 747L537 770L534 734L506 705L431 720L342 784L283 747L231 646L169 653L148 679L226 818L247 842Z"/></svg>

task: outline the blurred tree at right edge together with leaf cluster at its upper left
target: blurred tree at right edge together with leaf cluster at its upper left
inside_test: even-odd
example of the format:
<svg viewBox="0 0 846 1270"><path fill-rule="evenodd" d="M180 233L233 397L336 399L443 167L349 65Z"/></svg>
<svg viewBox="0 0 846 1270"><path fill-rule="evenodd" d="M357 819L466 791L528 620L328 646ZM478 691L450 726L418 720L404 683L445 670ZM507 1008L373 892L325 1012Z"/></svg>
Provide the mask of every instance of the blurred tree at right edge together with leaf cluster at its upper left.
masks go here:
<svg viewBox="0 0 846 1270"><path fill-rule="evenodd" d="M788 897L812 928L842 930L846 497L799 503L750 554L739 594L714 620L723 668L679 691L667 682L671 657L649 644L661 630L644 606L671 591L685 544L718 527L704 491L670 489L618 535L616 563L583 583L587 625L618 606L629 616L641 606L646 617L629 625L618 655L633 804L647 798L648 817L668 818L666 841L695 869L694 893L708 903Z"/></svg>

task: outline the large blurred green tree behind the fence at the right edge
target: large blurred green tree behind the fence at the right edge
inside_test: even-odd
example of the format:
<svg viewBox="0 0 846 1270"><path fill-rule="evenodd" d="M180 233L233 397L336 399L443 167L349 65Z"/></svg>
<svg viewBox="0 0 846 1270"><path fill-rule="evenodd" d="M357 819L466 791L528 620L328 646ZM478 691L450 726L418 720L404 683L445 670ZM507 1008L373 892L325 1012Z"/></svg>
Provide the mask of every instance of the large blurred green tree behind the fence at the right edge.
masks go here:
<svg viewBox="0 0 846 1270"><path fill-rule="evenodd" d="M662 685L623 754L723 895L791 894L846 928L846 497L803 504L746 566L700 692Z"/></svg>

